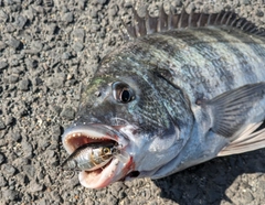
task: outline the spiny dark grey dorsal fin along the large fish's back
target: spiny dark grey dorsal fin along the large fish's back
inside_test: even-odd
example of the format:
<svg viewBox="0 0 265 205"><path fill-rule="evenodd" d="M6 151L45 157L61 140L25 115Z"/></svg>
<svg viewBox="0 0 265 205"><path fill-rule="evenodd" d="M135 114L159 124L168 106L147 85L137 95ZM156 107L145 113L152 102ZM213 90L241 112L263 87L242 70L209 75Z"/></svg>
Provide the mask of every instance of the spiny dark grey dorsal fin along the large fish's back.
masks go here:
<svg viewBox="0 0 265 205"><path fill-rule="evenodd" d="M194 13L186 12L183 8L181 13L167 14L163 7L159 10L159 17L150 17L146 11L146 17L139 17L137 11L134 11L134 21L131 25L126 25L130 37L145 36L156 32L169 31L181 28L201 28L209 25L227 25L240 29L244 32L254 35L265 36L264 29L258 29L254 23L245 18L240 18L232 11L221 11L219 13Z"/></svg>

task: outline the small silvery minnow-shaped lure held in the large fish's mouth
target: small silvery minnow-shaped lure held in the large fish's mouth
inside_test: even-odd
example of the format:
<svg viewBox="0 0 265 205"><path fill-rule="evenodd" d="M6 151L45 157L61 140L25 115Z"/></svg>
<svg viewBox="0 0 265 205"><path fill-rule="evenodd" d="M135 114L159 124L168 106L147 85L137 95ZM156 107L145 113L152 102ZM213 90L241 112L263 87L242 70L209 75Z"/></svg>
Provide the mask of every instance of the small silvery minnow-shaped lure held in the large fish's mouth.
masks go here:
<svg viewBox="0 0 265 205"><path fill-rule="evenodd" d="M106 165L118 148L113 142L92 142L78 147L62 164L63 170L94 171Z"/></svg>

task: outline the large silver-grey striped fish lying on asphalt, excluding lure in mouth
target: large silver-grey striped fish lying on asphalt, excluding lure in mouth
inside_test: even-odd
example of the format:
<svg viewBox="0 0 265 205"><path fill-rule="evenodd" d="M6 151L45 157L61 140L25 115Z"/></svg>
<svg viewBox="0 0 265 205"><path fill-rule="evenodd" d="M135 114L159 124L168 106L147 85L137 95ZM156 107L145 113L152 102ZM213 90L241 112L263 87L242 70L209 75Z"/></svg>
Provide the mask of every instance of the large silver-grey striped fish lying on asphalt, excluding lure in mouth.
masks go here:
<svg viewBox="0 0 265 205"><path fill-rule="evenodd" d="M120 159L82 171L80 183L161 179L218 157L265 147L265 32L231 11L139 17L100 61L62 136L117 143Z"/></svg>

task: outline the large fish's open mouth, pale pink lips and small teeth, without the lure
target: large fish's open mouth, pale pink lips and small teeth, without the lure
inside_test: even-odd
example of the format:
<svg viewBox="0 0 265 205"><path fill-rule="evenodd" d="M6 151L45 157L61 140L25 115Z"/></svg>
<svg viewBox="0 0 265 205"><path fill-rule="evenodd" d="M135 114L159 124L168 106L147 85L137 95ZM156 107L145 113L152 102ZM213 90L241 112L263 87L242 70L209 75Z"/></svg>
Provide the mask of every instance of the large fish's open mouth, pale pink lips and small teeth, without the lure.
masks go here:
<svg viewBox="0 0 265 205"><path fill-rule="evenodd" d="M104 166L93 171L82 171L80 182L88 188L102 188L123 179L132 165L131 157L125 152L128 139L117 128L105 125L73 126L62 136L65 150L71 154L77 148L92 142L115 142L120 149L120 158L114 157ZM120 160L123 159L123 160Z"/></svg>

